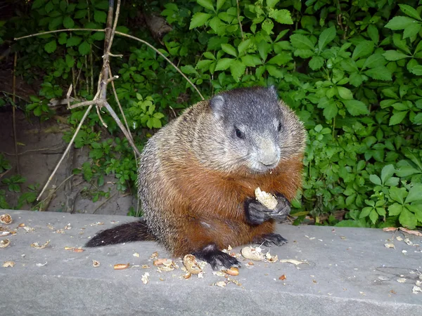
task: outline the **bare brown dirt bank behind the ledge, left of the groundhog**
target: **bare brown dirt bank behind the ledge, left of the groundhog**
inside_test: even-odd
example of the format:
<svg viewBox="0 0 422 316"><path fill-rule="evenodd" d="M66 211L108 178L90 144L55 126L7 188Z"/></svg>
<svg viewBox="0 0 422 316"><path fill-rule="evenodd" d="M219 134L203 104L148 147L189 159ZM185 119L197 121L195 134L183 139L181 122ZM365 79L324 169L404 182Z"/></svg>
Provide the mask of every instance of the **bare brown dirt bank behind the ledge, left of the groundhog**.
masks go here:
<svg viewBox="0 0 422 316"><path fill-rule="evenodd" d="M9 192L7 186L1 183L4 178L17 173L12 126L12 112L0 112L0 152L13 166L10 171L0 174L0 190L6 190L6 201L11 207L15 207L21 193ZM20 175L27 179L20 187L22 192L27 192L28 185L39 183L38 195L65 151L67 143L62 139L63 131L70 128L55 119L43 122L37 117L27 119L23 112L17 111L16 129ZM103 191L110 188L109 199L101 197L93 203L91 197L81 194L84 187L89 184L84 181L82 175L72 176L72 169L80 168L89 159L88 155L86 149L79 150L72 147L41 197L41 200L46 199L45 204L48 205L44 211L127 215L130 206L136 209L136 197L118 192L115 189L116 179L113 176L106 177L107 184L101 188ZM22 207L22 209L30 208L31 205Z"/></svg>

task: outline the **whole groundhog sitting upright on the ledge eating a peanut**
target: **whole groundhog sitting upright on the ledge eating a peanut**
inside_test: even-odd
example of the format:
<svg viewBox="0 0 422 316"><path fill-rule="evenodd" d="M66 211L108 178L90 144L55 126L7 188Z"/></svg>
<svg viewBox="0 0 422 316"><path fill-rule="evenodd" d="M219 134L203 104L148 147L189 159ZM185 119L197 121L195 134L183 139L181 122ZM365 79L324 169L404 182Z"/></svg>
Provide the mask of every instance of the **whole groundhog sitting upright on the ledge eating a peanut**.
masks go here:
<svg viewBox="0 0 422 316"><path fill-rule="evenodd" d="M239 265L226 246L287 242L274 234L302 180L302 123L276 89L238 88L189 107L148 140L139 164L143 218L104 230L86 246L156 240L173 256ZM257 202L256 187L277 199Z"/></svg>

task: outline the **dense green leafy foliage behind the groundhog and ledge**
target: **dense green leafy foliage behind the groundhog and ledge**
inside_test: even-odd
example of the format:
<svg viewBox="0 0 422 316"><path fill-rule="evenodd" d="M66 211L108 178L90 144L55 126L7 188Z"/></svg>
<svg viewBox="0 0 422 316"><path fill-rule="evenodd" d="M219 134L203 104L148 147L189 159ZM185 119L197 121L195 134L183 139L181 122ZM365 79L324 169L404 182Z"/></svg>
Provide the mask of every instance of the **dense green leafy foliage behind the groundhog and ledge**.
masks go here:
<svg viewBox="0 0 422 316"><path fill-rule="evenodd" d="M297 222L311 215L316 223L336 224L334 215L347 211L338 225L422 225L422 1L129 2L120 30L161 48L205 96L274 84L305 122L305 183L293 204ZM15 37L99 29L107 9L107 1L35 0L2 28L14 29ZM171 32L153 39L140 12L161 15ZM0 29L0 36L8 32ZM39 96L27 110L49 117L46 103L63 96L70 83L77 96L92 98L103 37L62 32L13 44L19 73L28 81L42 74ZM116 37L113 53L124 55L113 60L120 74L115 85L137 143L199 100L151 48ZM83 112L72 111L70 123ZM111 118L104 115L110 135L91 128L101 124L94 112L89 118L75 143L91 148L92 162L81 167L85 179L101 185L105 173L114 173L126 190L136 178L127 141L110 136L117 131Z"/></svg>

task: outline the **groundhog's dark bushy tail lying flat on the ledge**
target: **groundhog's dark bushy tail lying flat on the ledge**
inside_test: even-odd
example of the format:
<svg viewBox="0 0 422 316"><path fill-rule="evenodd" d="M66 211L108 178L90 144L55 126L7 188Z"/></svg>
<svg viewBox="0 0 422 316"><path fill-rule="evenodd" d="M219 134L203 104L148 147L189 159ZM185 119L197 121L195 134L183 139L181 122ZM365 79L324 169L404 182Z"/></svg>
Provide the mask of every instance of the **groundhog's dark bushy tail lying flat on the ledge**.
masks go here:
<svg viewBox="0 0 422 316"><path fill-rule="evenodd" d="M145 220L138 220L108 230L101 230L85 246L98 247L108 244L122 244L122 242L141 242L143 240L155 240L155 237L149 232Z"/></svg>

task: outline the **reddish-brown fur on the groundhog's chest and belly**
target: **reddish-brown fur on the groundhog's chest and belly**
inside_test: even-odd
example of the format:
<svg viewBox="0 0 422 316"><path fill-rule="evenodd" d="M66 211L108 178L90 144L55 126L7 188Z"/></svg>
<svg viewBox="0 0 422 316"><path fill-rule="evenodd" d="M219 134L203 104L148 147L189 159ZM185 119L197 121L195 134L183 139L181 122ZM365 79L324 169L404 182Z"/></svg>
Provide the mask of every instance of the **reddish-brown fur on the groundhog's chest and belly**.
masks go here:
<svg viewBox="0 0 422 316"><path fill-rule="evenodd" d="M289 201L293 199L301 185L302 154L282 160L271 173L255 175L210 171L194 159L188 164L174 165L172 170L177 176L173 174L171 186L177 187L177 192L168 201L172 214L167 218L178 227L178 236L167 242L172 244L174 256L183 256L212 242L223 249L274 232L272 220L261 225L246 223L243 201L255 195L256 187L281 193Z"/></svg>

